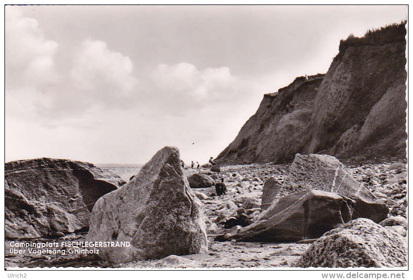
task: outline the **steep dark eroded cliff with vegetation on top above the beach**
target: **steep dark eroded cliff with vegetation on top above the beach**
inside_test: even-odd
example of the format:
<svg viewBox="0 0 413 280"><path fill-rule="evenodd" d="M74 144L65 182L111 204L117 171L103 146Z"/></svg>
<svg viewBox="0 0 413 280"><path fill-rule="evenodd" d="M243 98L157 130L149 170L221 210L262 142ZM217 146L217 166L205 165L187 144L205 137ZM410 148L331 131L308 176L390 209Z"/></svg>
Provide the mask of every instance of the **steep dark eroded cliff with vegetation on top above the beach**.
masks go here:
<svg viewBox="0 0 413 280"><path fill-rule="evenodd" d="M218 163L283 162L296 153L357 161L406 157L406 30L342 41L326 75L264 95Z"/></svg>

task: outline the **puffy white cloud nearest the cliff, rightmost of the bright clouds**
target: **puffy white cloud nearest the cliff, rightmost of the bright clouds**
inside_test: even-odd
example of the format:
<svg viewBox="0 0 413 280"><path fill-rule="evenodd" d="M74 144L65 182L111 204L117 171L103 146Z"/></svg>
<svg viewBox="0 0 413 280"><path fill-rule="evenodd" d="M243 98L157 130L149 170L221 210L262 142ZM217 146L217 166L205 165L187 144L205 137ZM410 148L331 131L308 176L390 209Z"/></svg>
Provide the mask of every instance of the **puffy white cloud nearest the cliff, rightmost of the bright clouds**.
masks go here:
<svg viewBox="0 0 413 280"><path fill-rule="evenodd" d="M142 79L141 79L142 80ZM207 105L242 103L252 84L228 67L197 69L189 63L159 64L145 79L138 100L150 104L146 114L185 116Z"/></svg>

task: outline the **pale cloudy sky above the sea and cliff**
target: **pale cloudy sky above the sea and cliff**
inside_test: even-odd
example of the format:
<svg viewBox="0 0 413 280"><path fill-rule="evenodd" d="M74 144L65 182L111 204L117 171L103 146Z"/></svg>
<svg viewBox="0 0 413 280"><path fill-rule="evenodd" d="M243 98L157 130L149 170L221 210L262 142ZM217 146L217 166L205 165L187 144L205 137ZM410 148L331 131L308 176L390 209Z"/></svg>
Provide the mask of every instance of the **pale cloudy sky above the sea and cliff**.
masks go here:
<svg viewBox="0 0 413 280"><path fill-rule="evenodd" d="M264 93L326 73L386 6L5 6L5 161L204 164Z"/></svg>

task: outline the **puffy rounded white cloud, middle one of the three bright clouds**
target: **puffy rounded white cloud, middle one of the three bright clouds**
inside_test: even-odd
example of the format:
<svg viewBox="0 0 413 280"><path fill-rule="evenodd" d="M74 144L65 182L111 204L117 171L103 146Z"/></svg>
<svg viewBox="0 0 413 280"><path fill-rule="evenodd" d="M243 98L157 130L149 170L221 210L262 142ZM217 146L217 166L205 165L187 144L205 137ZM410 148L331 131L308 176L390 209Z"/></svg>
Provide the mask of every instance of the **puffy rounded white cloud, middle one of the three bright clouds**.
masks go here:
<svg viewBox="0 0 413 280"><path fill-rule="evenodd" d="M137 80L127 56L110 50L105 42L86 39L71 58L66 78L51 93L52 105L38 104L39 114L56 118L131 106Z"/></svg>

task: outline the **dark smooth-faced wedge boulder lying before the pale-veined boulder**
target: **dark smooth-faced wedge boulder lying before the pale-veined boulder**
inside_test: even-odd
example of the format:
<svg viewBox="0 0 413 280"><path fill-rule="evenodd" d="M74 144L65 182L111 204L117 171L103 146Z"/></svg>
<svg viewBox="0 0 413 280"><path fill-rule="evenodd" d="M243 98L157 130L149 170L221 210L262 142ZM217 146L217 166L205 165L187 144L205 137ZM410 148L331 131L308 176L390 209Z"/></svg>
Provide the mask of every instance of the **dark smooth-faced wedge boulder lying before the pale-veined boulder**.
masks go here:
<svg viewBox="0 0 413 280"><path fill-rule="evenodd" d="M354 201L321 190L303 190L284 196L258 220L237 233L226 233L216 241L298 241L318 238L350 221Z"/></svg>

